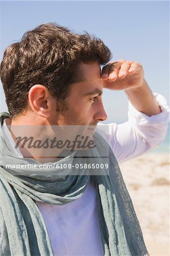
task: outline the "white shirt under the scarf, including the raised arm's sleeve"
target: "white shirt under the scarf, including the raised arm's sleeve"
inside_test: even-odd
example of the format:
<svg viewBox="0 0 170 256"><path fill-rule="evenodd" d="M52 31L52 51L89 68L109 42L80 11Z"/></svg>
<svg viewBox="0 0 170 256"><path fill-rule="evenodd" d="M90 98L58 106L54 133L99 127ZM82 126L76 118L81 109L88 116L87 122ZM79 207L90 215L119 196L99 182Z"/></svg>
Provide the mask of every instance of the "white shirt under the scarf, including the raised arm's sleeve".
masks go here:
<svg viewBox="0 0 170 256"><path fill-rule="evenodd" d="M169 109L163 96L155 93L155 97L162 111L160 114L148 117L129 102L128 121L119 125L109 124L110 147L119 163L163 142L167 133ZM2 129L9 139L8 146L21 156L19 148L14 148L13 137L5 122ZM96 189L91 181L84 195L71 203L63 206L37 203L55 255L103 255L96 200Z"/></svg>

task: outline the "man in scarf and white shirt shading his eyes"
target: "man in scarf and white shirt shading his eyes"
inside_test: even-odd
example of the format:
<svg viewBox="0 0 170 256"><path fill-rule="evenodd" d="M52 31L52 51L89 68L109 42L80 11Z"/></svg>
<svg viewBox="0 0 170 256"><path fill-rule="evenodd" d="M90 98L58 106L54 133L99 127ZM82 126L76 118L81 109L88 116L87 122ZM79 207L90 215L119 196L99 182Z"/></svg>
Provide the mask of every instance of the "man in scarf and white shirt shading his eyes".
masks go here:
<svg viewBox="0 0 170 256"><path fill-rule="evenodd" d="M7 47L1 63L10 113L1 115L1 255L148 255L113 152L122 162L161 143L168 106L151 92L140 63L118 60L101 73L110 57L101 40L52 23ZM63 148L56 148L47 161L47 148L35 155L34 148L15 147L15 127L47 127L47 134L31 130L40 140L52 136L53 126L87 126L93 134L107 118L103 88L125 90L131 102L129 121L109 127L109 174L100 168L102 175L72 175L78 151L60 159ZM95 141L98 147L83 151L83 171L87 163L103 163L94 156L107 143L100 135ZM56 169L38 176L7 167L48 162L60 164L61 175ZM61 164L71 164L71 175L62 175Z"/></svg>

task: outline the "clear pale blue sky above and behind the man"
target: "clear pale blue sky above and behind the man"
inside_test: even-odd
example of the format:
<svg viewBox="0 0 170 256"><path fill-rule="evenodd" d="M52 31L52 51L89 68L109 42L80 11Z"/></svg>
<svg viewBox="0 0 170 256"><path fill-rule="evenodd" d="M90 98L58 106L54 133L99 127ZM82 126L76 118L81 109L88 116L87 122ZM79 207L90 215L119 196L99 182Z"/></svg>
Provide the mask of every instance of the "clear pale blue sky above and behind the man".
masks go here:
<svg viewBox="0 0 170 256"><path fill-rule="evenodd" d="M142 63L153 92L169 102L168 1L1 1L1 51L39 24L56 22L93 33L111 49L113 61ZM1 87L0 112L7 110ZM107 122L127 120L125 92L104 90Z"/></svg>

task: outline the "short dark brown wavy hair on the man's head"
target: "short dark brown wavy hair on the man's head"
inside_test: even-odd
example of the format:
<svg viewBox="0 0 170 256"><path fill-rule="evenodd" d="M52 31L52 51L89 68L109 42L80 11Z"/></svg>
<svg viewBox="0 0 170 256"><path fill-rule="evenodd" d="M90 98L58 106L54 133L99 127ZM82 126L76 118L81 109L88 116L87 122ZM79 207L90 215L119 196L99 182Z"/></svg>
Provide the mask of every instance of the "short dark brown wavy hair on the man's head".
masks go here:
<svg viewBox="0 0 170 256"><path fill-rule="evenodd" d="M109 48L95 36L75 34L56 23L46 23L27 31L20 42L6 48L1 63L1 80L11 117L27 109L31 86L42 84L59 102L69 85L82 80L78 65L106 64Z"/></svg>

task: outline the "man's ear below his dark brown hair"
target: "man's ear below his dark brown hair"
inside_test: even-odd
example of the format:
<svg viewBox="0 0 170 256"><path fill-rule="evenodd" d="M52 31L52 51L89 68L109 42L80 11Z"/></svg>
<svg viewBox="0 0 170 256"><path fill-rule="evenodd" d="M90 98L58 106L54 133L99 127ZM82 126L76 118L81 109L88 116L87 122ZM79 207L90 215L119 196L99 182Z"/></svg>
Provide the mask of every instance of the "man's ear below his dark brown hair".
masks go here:
<svg viewBox="0 0 170 256"><path fill-rule="evenodd" d="M49 90L40 84L32 86L28 93L28 102L32 111L43 118L49 118L51 114L52 99Z"/></svg>

